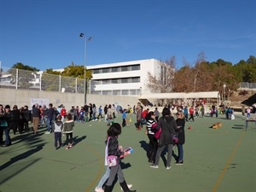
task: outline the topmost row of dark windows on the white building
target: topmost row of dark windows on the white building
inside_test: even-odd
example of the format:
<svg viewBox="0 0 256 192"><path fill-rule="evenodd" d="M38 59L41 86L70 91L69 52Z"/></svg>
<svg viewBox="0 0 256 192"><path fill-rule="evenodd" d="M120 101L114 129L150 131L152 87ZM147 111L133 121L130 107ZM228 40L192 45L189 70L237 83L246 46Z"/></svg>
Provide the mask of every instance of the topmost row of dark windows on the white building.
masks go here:
<svg viewBox="0 0 256 192"><path fill-rule="evenodd" d="M137 71L140 70L140 64L131 65L131 66L121 66L121 67L106 67L99 69L92 69L93 74L98 73L115 73L115 72L128 72L128 71Z"/></svg>

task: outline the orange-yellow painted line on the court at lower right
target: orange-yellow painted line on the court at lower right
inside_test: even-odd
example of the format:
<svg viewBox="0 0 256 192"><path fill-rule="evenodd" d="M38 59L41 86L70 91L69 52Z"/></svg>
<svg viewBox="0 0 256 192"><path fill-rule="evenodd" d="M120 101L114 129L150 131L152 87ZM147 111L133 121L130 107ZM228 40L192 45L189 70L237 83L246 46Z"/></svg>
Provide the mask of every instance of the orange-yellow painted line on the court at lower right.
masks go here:
<svg viewBox="0 0 256 192"><path fill-rule="evenodd" d="M223 177L224 177L224 175L225 175L225 172L227 171L227 169L228 169L228 167L229 167L229 165L230 165L230 163L231 163L231 160L233 159L234 155L236 154L237 148L239 148L239 146L240 146L240 144L241 144L241 141L242 141L243 137L245 136L245 133L246 133L246 132L243 131L243 133L241 134L241 137L240 137L239 141L236 143L236 147L233 149L232 153L230 154L229 159L227 160L227 162L226 162L224 168L222 169L222 172L220 173L220 176L218 177L218 180L217 180L217 182L215 183L215 185L214 185L214 187L213 187L213 189L212 189L212 192L216 192L216 191L217 191L218 186L219 186L219 184L221 183L221 181L222 181L222 179L223 179Z"/></svg>

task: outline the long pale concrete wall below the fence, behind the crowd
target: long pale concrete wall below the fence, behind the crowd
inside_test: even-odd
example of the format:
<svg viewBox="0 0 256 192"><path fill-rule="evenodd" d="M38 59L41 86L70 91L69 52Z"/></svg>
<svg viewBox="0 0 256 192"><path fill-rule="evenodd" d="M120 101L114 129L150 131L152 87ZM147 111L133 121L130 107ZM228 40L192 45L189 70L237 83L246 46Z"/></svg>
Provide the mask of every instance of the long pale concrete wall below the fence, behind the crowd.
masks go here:
<svg viewBox="0 0 256 192"><path fill-rule="evenodd" d="M84 105L84 94L79 93L61 93L53 91L38 91L38 90L13 90L0 88L0 104L9 104L11 108L16 104L18 108L27 105L29 108L32 98L49 99L55 107L60 104L65 105L67 109L72 106ZM87 95L87 103L95 103L98 108L100 105L104 107L106 104L119 104L123 108L127 105L137 105L139 102L137 96L102 96L102 95Z"/></svg>

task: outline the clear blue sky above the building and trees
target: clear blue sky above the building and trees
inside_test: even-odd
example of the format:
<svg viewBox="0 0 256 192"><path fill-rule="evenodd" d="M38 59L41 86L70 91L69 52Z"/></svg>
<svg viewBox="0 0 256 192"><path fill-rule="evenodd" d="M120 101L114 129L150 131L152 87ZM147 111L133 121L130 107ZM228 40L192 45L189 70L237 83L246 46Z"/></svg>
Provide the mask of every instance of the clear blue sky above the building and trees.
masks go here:
<svg viewBox="0 0 256 192"><path fill-rule="evenodd" d="M0 0L2 67L256 55L256 0Z"/></svg>

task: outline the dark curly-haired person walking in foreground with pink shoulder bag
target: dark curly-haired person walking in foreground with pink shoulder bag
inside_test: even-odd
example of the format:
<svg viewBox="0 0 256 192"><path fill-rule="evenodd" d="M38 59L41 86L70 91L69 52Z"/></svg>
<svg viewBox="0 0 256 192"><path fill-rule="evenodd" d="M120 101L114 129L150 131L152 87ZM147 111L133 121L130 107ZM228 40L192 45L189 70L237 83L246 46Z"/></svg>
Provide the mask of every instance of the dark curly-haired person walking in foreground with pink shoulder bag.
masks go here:
<svg viewBox="0 0 256 192"><path fill-rule="evenodd" d="M118 137L120 134L121 134L121 125L119 125L118 123L113 123L113 125L111 125L110 128L108 129L109 139L107 144L108 150L106 150L106 154L108 154L108 156L111 156L111 155L116 156L117 165L110 166L110 175L108 177L108 182L105 185L104 192L112 192L113 180L116 177L116 175L118 175L119 184L125 192L136 192L136 190L130 190L128 188L127 183L125 182L124 173L120 166L121 156L130 154L129 152L124 152L122 148L119 148Z"/></svg>

